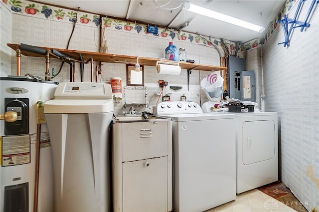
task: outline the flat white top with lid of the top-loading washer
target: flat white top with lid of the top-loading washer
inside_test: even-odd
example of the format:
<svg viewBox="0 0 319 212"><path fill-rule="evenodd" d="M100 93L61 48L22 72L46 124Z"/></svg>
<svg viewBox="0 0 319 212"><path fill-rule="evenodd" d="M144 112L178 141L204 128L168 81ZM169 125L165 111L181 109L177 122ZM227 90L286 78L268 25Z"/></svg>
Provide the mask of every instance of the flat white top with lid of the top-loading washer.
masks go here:
<svg viewBox="0 0 319 212"><path fill-rule="evenodd" d="M216 120L216 119L233 119L232 114L211 114L211 113L187 113L187 114L168 114L160 115L162 117L171 118L172 121L202 121L202 120Z"/></svg>

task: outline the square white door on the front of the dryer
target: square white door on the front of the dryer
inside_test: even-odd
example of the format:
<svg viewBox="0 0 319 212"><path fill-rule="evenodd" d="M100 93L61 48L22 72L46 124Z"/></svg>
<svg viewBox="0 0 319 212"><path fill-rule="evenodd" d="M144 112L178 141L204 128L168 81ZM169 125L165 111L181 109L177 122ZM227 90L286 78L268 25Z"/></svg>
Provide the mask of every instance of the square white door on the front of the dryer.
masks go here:
<svg viewBox="0 0 319 212"><path fill-rule="evenodd" d="M274 158L275 123L273 120L246 121L243 124L243 163Z"/></svg>

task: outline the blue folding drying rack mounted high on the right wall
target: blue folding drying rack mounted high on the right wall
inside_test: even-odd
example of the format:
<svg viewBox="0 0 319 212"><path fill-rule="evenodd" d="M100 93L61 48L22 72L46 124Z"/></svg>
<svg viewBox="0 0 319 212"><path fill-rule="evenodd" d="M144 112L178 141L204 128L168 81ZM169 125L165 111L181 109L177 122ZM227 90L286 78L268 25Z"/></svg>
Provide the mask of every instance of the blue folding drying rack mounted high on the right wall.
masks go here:
<svg viewBox="0 0 319 212"><path fill-rule="evenodd" d="M306 1L306 0L299 0L298 7L297 7L297 10L296 10L296 13L295 13L295 16L293 19L288 18L287 15L285 14L283 19L277 20L277 22L280 22L280 24L284 30L284 35L285 35L285 41L278 43L278 45L284 44L284 47L286 47L286 45L289 46L290 35L291 35L291 32L294 28L301 27L300 31L304 31L305 27L310 26L310 24L307 23L307 21L310 17L310 14L311 14L315 4L319 3L319 0L312 0L312 3L309 7L307 16L305 18L305 21L299 21L299 20L297 20L297 17L300 15L300 11L301 11L301 8L302 8L304 1ZM291 24L289 29L288 29L288 24Z"/></svg>

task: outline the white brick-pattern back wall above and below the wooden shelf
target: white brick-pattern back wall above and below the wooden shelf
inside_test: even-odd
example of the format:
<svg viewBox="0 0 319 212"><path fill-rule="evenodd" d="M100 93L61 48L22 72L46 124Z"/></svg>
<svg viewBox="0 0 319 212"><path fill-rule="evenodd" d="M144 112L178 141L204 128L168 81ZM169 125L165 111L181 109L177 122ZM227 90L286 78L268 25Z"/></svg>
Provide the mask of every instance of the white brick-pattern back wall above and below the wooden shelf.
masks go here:
<svg viewBox="0 0 319 212"><path fill-rule="evenodd" d="M4 8L5 9L5 8ZM19 14L12 14L12 40L11 43L25 43L34 46L45 46L52 48L65 49L67 41L72 31L72 23L33 18ZM98 51L99 30L97 27L76 25L73 35L70 39L68 49L83 51ZM164 57L164 49L168 46L167 39L161 39L154 36L141 36L120 30L105 30L105 40L108 46L108 53L141 56L141 57ZM2 41L1 41L2 44ZM187 58L195 60L196 63L211 64L219 66L219 54L216 49L204 45L196 45L192 43L174 41L177 48L184 47L187 52ZM11 74L16 75L16 59L15 52L6 46L7 52L11 53ZM94 63L95 67L98 63ZM57 59L50 60L50 72L54 68L55 73L60 69L61 61ZM90 81L90 63L84 65L84 81ZM54 78L57 82L69 81L69 65L64 64L58 76ZM76 64L76 81L80 81L79 64ZM127 103L144 103L145 94L150 101L148 108L138 107L137 112L153 111L153 106L158 101L159 96L156 92L159 90L160 79L167 81L168 86L163 90L164 94L171 95L171 100L179 101L182 94L186 94L187 100L202 104L211 100L206 95L206 91L200 89L200 80L210 74L210 71L193 70L190 74L189 91L187 89L187 70L182 69L180 75L158 74L156 67L144 67L144 82L147 90L125 90L125 101ZM2 73L2 71L1 71ZM45 59L36 57L21 57L21 75L33 73L44 78ZM5 73L3 73L5 74ZM102 74L99 75L98 81L108 83L111 77L121 77L122 86L126 85L126 65L115 63L104 63L102 66ZM95 79L95 76L94 76ZM181 90L174 91L169 86L182 86ZM161 97L159 99L161 102ZM124 99L120 103L115 103L116 115L128 111L124 108Z"/></svg>

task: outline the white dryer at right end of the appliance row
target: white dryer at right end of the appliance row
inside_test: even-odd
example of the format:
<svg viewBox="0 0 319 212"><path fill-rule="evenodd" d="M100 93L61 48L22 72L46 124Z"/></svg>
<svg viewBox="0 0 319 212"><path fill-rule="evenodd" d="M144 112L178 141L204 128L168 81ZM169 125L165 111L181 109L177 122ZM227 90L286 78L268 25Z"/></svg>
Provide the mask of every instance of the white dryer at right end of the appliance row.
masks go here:
<svg viewBox="0 0 319 212"><path fill-rule="evenodd" d="M205 102L204 112L212 112ZM278 181L277 112L240 112L236 125L236 193L240 194Z"/></svg>

